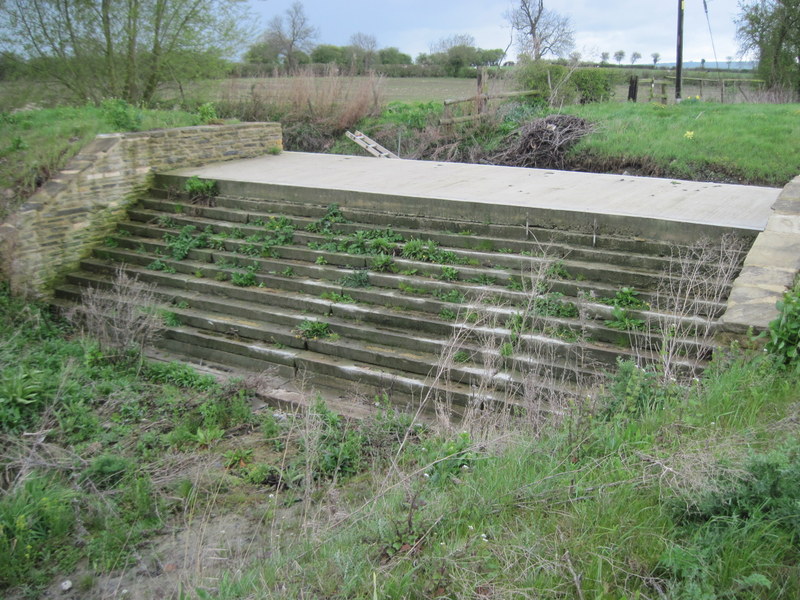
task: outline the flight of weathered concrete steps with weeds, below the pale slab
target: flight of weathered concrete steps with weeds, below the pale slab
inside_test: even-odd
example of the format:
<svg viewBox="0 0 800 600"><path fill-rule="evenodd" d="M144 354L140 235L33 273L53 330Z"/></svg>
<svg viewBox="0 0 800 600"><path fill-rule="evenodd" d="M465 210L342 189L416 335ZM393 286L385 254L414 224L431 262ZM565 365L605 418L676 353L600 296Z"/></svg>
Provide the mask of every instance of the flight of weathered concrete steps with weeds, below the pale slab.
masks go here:
<svg viewBox="0 0 800 600"><path fill-rule="evenodd" d="M330 211L280 197L203 206L153 190L54 302L80 301L82 288L110 285L125 265L180 322L164 332L165 352L409 406L446 398L462 412L476 402L524 410L531 388L574 397L598 389L619 360L657 363L662 346L689 376L713 348L700 334L713 331L721 300L680 316L608 304L630 287L656 306L659 286L678 283L661 273L672 249L658 240L363 206L323 227ZM203 243L175 241L188 227ZM291 235L265 246L281 227ZM392 264L380 271L367 253L376 229L393 236L382 246ZM449 264L403 257L413 240L431 240ZM315 321L333 336L304 338L300 328ZM626 324L642 329L618 329Z"/></svg>

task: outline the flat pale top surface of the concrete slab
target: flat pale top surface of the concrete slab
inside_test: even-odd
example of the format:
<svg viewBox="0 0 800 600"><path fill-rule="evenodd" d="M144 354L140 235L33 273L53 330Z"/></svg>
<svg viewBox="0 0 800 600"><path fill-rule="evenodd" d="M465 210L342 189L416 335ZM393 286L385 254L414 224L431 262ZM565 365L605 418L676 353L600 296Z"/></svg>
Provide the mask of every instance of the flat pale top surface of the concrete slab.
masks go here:
<svg viewBox="0 0 800 600"><path fill-rule="evenodd" d="M169 174L763 231L779 188L284 152Z"/></svg>

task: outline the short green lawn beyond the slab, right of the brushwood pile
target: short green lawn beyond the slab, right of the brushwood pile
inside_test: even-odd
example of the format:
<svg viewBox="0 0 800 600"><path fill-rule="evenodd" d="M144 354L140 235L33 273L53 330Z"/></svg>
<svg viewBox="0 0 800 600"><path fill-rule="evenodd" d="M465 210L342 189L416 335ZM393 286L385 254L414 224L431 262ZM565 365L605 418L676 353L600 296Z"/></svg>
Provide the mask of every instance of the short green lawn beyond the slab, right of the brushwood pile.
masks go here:
<svg viewBox="0 0 800 600"><path fill-rule="evenodd" d="M605 103L564 110L597 126L570 159L592 170L768 186L800 173L798 104Z"/></svg>

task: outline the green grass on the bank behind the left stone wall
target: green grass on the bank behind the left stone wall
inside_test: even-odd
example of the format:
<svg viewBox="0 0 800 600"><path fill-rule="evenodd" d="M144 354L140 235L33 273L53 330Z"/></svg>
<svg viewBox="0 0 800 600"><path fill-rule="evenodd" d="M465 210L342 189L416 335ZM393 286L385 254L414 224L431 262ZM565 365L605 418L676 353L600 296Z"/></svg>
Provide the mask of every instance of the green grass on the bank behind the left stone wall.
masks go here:
<svg viewBox="0 0 800 600"><path fill-rule="evenodd" d="M179 110L129 112L140 130L198 123L196 115ZM0 112L0 189L10 190L8 197L0 198L0 220L97 134L124 130L118 124L119 114L94 106Z"/></svg>

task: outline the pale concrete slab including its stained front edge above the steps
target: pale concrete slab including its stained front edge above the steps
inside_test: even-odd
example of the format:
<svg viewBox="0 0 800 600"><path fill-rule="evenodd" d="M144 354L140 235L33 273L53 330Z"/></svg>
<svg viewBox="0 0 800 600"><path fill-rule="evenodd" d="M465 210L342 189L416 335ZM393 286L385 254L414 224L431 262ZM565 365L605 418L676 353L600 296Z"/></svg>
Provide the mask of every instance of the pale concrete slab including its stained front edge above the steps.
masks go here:
<svg viewBox="0 0 800 600"><path fill-rule="evenodd" d="M431 217L507 220L691 242L764 229L780 189L490 165L284 152L170 174L269 184L287 198L357 208L359 198ZM250 195L250 188L243 188ZM443 202L432 203L431 200ZM393 206L392 206L393 205ZM403 213L408 214L408 213ZM546 223L542 223L542 220Z"/></svg>

